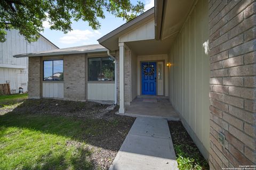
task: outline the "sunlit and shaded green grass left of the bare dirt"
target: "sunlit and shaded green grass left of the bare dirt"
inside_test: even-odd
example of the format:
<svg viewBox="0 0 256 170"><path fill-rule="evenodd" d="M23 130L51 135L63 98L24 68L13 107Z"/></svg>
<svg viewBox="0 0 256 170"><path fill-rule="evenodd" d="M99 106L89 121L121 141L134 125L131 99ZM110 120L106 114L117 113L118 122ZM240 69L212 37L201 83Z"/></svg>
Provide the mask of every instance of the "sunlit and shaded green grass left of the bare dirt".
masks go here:
<svg viewBox="0 0 256 170"><path fill-rule="evenodd" d="M51 115L1 116L0 169L91 169L91 152L79 139L82 124Z"/></svg>

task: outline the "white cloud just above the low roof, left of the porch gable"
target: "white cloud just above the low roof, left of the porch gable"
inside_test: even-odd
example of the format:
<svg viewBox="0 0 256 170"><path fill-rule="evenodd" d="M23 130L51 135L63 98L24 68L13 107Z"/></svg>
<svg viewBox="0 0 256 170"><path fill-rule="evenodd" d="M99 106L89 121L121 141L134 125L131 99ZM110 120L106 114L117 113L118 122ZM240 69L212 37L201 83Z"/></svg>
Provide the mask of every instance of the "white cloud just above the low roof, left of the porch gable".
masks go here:
<svg viewBox="0 0 256 170"><path fill-rule="evenodd" d="M84 41L90 40L90 38L94 38L101 35L101 33L97 30L73 30L67 33L66 36L60 38L59 42L62 44L75 44L75 43L85 43Z"/></svg>

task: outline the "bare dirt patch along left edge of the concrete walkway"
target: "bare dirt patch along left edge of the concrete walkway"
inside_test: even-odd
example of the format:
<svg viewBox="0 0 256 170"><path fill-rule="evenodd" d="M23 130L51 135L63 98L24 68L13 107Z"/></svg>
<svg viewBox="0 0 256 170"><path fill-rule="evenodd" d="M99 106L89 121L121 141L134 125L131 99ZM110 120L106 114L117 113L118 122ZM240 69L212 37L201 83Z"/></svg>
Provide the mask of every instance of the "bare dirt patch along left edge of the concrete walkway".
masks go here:
<svg viewBox="0 0 256 170"><path fill-rule="evenodd" d="M93 143L90 145L90 150L93 150L91 155L95 167L101 169L108 169L112 164L118 150L128 134L135 118L127 116L119 116L114 112L108 112L101 117L104 125L104 130L98 135L86 134L83 139L86 143Z"/></svg>

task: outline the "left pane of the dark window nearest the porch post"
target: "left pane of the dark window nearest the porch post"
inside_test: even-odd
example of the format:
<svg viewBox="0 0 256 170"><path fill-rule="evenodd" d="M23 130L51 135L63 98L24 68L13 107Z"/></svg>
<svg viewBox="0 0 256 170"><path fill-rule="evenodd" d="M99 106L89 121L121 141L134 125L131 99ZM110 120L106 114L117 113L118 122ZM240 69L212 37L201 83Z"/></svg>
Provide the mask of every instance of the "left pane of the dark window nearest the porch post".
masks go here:
<svg viewBox="0 0 256 170"><path fill-rule="evenodd" d="M89 58L89 81L101 81L100 58Z"/></svg>

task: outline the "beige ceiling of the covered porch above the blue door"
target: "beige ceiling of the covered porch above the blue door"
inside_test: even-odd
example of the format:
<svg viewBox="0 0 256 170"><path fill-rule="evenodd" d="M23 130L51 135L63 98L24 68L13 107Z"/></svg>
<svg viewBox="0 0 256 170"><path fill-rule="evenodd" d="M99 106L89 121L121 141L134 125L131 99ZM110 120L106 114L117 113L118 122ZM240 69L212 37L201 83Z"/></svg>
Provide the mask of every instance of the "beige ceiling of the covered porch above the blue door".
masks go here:
<svg viewBox="0 0 256 170"><path fill-rule="evenodd" d="M175 39L174 36L170 36L164 40L142 40L131 41L125 43L131 48L131 50L137 55L154 55L154 54L168 54L170 46Z"/></svg>

